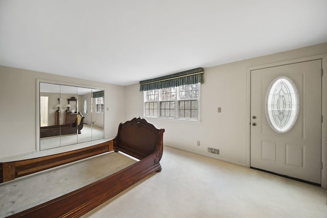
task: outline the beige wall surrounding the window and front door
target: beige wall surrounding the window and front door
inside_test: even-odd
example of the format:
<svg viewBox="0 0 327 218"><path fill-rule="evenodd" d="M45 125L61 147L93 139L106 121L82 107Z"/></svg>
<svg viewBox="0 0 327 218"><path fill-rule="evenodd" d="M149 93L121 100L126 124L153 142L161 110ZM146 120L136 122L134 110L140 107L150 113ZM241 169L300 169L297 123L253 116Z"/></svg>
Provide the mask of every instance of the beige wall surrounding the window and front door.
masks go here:
<svg viewBox="0 0 327 218"><path fill-rule="evenodd" d="M249 166L248 69L252 66L320 54L327 54L327 43L205 68L204 84L201 86L201 122L161 118L148 118L148 120L157 127L166 129L164 133L166 146ZM126 118L143 116L143 94L138 91L139 85L127 86L125 90ZM221 113L217 112L218 107L222 108ZM326 138L325 133L323 138ZM197 146L197 141L200 141L200 146ZM323 143L322 149L327 153L325 144ZM220 155L208 154L207 147L220 149ZM324 161L327 165L326 157ZM326 175L325 170L323 177L325 178Z"/></svg>

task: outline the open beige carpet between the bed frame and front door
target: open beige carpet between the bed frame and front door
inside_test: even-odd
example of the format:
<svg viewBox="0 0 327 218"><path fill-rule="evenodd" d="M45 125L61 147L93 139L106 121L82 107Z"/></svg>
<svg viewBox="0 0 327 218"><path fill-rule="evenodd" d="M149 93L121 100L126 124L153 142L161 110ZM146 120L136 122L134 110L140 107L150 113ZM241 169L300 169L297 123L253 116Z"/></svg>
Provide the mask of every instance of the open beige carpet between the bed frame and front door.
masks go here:
<svg viewBox="0 0 327 218"><path fill-rule="evenodd" d="M160 162L83 217L327 217L321 187L168 147Z"/></svg>

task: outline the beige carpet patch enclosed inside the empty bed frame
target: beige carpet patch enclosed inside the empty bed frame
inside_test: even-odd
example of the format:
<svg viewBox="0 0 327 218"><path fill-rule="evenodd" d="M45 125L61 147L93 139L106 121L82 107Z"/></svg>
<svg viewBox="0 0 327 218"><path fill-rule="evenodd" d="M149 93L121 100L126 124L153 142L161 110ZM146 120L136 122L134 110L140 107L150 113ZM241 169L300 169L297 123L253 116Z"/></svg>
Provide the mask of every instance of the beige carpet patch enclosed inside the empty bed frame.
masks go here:
<svg viewBox="0 0 327 218"><path fill-rule="evenodd" d="M37 206L137 162L110 152L0 184L0 217Z"/></svg>

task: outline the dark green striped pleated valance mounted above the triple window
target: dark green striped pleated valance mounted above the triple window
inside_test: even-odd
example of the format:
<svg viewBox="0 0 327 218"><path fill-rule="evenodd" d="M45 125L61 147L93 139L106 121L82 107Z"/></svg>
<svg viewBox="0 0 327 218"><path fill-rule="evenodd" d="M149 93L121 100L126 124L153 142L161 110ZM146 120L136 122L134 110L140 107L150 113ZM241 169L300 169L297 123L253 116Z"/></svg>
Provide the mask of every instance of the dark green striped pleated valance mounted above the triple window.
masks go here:
<svg viewBox="0 0 327 218"><path fill-rule="evenodd" d="M139 91L177 87L181 85L190 85L203 82L203 68L199 67L196 69L178 72L177 74L140 81L139 84L141 86L139 87Z"/></svg>

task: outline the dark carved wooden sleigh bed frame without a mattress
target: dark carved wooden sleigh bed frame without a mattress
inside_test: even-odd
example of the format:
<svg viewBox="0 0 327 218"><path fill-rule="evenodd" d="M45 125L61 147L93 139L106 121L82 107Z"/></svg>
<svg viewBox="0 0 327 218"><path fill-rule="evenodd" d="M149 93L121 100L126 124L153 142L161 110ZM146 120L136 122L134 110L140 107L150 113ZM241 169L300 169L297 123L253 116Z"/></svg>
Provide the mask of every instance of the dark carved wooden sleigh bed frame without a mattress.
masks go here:
<svg viewBox="0 0 327 218"><path fill-rule="evenodd" d="M121 123L116 137L107 142L56 155L0 163L0 182L7 182L110 151L121 151L139 159L119 172L9 217L79 217L85 214L153 172L161 171L159 161L164 132L165 129L157 129L146 119L133 118Z"/></svg>

